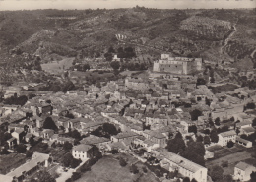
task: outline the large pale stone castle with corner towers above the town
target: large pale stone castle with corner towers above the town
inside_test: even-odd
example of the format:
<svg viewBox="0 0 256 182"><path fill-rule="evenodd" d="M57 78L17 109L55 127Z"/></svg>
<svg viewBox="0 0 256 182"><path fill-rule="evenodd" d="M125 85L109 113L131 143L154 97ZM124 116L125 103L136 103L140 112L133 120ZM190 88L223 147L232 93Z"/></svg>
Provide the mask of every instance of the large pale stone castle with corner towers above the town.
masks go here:
<svg viewBox="0 0 256 182"><path fill-rule="evenodd" d="M161 54L161 59L154 61L153 72L189 75L202 69L202 58L170 57Z"/></svg>

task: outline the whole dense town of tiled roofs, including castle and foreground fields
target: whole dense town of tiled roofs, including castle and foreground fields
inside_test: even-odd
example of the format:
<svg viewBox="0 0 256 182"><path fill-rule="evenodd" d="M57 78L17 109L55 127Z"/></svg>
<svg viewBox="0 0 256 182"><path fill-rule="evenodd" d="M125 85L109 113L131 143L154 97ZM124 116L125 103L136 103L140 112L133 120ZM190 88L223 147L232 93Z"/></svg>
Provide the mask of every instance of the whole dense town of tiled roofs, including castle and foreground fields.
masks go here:
<svg viewBox="0 0 256 182"><path fill-rule="evenodd" d="M203 79L207 64L161 54L80 90L1 85L1 181L255 181L256 91Z"/></svg>

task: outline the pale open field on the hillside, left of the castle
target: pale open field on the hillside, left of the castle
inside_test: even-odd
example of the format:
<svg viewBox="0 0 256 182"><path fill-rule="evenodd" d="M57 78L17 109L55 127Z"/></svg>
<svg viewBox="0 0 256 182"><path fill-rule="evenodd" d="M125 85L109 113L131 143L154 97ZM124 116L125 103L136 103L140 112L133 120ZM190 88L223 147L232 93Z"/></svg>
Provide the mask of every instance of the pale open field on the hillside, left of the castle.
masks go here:
<svg viewBox="0 0 256 182"><path fill-rule="evenodd" d="M42 70L49 72L51 74L61 74L66 69L72 66L74 58L64 58L61 61L53 61L50 63L41 64Z"/></svg>

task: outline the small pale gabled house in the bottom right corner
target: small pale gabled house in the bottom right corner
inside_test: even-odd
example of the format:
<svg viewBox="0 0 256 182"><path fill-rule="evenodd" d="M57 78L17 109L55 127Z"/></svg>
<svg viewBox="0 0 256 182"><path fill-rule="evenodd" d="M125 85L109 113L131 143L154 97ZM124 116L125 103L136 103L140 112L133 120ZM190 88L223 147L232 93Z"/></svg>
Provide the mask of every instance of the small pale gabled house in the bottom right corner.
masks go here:
<svg viewBox="0 0 256 182"><path fill-rule="evenodd" d="M250 164L240 161L234 167L234 180L249 181L251 179L251 173L256 171L256 168Z"/></svg>

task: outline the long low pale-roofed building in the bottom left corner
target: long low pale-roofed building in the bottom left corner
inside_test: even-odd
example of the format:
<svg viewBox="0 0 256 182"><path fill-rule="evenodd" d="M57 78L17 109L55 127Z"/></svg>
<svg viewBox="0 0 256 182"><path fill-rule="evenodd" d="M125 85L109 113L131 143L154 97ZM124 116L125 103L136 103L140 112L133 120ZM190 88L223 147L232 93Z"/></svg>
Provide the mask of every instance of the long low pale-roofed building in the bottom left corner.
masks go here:
<svg viewBox="0 0 256 182"><path fill-rule="evenodd" d="M31 160L9 172L6 176L12 177L15 182L24 181L27 176L32 175L41 167L48 167L48 159L49 154L34 152Z"/></svg>

